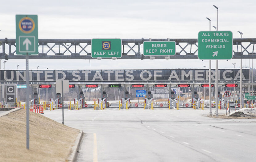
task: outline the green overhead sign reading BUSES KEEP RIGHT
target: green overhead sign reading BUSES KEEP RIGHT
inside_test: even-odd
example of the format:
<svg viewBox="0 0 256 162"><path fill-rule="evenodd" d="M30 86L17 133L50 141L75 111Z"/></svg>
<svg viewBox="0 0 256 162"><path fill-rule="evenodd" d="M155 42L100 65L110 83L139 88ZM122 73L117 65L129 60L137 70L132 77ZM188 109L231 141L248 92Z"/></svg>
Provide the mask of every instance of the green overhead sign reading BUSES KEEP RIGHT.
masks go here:
<svg viewBox="0 0 256 162"><path fill-rule="evenodd" d="M145 41L143 42L143 55L175 55L175 41Z"/></svg>

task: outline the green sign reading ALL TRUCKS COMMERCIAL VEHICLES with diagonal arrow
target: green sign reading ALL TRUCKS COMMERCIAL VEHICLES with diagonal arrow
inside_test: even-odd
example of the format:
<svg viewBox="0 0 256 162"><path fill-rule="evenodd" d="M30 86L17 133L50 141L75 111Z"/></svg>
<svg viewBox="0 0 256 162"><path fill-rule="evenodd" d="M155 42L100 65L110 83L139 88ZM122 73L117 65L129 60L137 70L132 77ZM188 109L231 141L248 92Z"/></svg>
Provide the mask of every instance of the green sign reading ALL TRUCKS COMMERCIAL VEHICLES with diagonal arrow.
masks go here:
<svg viewBox="0 0 256 162"><path fill-rule="evenodd" d="M199 59L232 59L232 52L231 31L200 31L198 33Z"/></svg>

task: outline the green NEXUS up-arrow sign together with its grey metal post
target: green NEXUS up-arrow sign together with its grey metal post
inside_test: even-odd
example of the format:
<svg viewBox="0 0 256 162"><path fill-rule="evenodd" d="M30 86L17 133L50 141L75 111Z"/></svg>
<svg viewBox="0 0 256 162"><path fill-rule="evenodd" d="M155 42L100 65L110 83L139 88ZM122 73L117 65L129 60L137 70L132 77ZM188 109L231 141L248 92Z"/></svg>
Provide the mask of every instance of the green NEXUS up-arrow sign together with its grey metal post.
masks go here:
<svg viewBox="0 0 256 162"><path fill-rule="evenodd" d="M29 149L29 73L28 55L38 54L37 15L16 15L16 54L26 55L26 145Z"/></svg>

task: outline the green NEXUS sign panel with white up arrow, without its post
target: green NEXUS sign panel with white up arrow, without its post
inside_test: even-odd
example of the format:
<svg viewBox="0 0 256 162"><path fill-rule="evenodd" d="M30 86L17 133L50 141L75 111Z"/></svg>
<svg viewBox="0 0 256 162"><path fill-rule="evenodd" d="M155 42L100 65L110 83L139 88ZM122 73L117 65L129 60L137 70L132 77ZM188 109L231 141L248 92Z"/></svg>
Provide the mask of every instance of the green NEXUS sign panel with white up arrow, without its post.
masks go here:
<svg viewBox="0 0 256 162"><path fill-rule="evenodd" d="M16 54L38 54L37 15L16 15Z"/></svg>

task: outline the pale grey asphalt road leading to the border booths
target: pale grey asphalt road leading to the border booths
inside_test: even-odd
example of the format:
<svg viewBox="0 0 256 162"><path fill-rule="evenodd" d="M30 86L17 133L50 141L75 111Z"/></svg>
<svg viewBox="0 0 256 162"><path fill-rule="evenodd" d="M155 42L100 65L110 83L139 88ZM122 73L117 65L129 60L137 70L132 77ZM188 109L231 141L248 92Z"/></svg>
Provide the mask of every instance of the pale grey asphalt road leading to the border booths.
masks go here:
<svg viewBox="0 0 256 162"><path fill-rule="evenodd" d="M45 116L62 122L61 110ZM219 110L224 114L225 110ZM256 119L213 119L209 109L64 110L81 129L77 161L255 161Z"/></svg>

